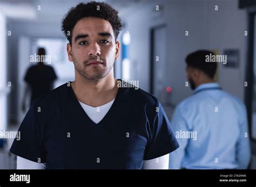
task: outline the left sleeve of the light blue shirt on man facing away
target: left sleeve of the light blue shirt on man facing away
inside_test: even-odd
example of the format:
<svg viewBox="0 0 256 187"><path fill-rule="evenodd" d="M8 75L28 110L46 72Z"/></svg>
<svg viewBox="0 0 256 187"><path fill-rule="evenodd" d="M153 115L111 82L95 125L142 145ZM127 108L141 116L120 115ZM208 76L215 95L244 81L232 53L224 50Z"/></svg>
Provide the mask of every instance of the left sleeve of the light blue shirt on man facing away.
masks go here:
<svg viewBox="0 0 256 187"><path fill-rule="evenodd" d="M178 105L173 112L171 124L174 133L179 131L189 131L186 120L182 115L180 105ZM182 162L185 157L188 139L180 138L178 139L178 143L180 147L175 152L170 154L169 169L181 169L181 167L183 167Z"/></svg>

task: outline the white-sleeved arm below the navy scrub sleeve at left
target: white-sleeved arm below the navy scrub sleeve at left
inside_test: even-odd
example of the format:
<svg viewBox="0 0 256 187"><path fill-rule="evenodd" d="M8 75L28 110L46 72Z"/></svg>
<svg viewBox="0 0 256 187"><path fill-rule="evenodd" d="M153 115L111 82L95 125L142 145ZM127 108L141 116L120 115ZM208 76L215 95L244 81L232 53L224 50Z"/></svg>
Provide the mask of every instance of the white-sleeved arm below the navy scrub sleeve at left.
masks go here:
<svg viewBox="0 0 256 187"><path fill-rule="evenodd" d="M17 169L46 169L46 166L17 156Z"/></svg>

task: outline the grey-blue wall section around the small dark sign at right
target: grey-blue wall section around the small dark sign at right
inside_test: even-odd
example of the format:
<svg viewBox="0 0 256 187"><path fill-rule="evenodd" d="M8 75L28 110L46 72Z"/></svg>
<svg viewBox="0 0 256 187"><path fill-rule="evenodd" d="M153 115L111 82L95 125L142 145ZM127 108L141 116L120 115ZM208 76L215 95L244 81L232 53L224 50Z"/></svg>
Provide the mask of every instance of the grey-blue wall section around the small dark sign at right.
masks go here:
<svg viewBox="0 0 256 187"><path fill-rule="evenodd" d="M218 5L215 11L214 5ZM244 31L248 31L247 12L238 9L238 1L215 0L207 3L207 20L209 20L209 47L223 50L227 48L239 49L240 67L225 68L224 64L219 66L219 82L224 90L244 100L245 64L247 62L247 39Z"/></svg>

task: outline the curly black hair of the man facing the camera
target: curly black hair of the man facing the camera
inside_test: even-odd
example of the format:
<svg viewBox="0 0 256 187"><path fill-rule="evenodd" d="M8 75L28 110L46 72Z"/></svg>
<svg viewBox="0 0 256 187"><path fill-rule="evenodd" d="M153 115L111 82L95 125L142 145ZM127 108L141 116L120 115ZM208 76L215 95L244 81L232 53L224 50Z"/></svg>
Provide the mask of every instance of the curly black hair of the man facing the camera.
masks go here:
<svg viewBox="0 0 256 187"><path fill-rule="evenodd" d="M71 44L72 31L77 22L86 17L103 18L111 24L114 37L117 39L122 29L121 19L118 11L113 9L109 4L104 2L79 3L76 7L72 7L62 20L62 31Z"/></svg>

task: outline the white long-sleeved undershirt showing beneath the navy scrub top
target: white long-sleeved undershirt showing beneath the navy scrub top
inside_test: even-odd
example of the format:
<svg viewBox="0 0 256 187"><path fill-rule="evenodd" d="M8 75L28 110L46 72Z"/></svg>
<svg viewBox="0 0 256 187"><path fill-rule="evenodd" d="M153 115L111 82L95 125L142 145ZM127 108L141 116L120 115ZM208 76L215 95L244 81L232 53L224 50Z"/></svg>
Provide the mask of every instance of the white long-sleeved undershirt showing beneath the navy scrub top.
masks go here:
<svg viewBox="0 0 256 187"><path fill-rule="evenodd" d="M96 124L101 121L106 113L114 103L114 99L111 102L106 103L102 106L92 107L80 102L87 116ZM160 156L156 159L145 160L143 163L143 169L168 169L169 168L169 154ZM17 169L46 169L45 164L33 162L17 156Z"/></svg>

